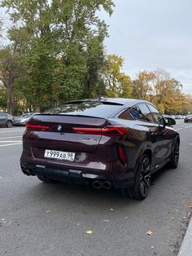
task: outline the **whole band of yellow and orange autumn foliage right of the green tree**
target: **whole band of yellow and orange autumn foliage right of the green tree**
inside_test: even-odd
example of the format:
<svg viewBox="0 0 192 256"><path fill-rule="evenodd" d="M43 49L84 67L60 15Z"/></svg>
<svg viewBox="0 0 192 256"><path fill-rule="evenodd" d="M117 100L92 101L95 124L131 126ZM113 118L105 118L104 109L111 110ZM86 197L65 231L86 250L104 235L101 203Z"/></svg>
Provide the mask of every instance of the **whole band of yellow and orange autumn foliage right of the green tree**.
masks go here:
<svg viewBox="0 0 192 256"><path fill-rule="evenodd" d="M177 114L192 111L192 98L182 93L181 82L163 69L142 71L131 80L122 71L124 59L107 55L103 66L103 82L108 97L146 99L155 104L161 113Z"/></svg>

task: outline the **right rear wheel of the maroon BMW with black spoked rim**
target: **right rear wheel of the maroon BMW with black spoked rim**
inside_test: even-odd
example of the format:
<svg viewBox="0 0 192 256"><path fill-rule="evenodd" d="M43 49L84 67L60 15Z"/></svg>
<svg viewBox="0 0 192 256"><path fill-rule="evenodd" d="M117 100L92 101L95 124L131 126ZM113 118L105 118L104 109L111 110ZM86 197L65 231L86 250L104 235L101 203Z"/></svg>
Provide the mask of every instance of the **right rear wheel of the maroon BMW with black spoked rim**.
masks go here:
<svg viewBox="0 0 192 256"><path fill-rule="evenodd" d="M147 155L143 155L141 165L138 167L134 186L122 188L124 197L143 200L148 195L151 185L151 161Z"/></svg>

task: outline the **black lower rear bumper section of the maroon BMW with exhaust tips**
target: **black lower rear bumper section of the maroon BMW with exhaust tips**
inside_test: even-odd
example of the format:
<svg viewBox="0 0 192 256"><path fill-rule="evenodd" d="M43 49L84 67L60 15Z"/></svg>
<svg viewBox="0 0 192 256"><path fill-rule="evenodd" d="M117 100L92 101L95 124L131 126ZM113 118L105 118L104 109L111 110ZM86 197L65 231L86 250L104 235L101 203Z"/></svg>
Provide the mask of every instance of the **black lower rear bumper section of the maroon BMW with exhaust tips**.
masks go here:
<svg viewBox="0 0 192 256"><path fill-rule="evenodd" d="M109 173L85 170L71 170L53 166L42 166L31 162L21 161L21 170L26 175L37 175L42 178L59 180L69 183L81 183L92 185L94 181L110 182L112 188L127 188L133 186L133 177L126 179L115 179Z"/></svg>

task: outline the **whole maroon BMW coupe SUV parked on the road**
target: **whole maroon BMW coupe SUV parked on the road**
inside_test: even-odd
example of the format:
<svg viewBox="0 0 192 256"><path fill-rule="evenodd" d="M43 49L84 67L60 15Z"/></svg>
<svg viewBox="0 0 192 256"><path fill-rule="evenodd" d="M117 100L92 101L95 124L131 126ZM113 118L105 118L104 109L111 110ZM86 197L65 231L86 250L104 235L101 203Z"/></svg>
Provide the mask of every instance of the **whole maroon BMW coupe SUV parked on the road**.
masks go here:
<svg viewBox="0 0 192 256"><path fill-rule="evenodd" d="M144 199L151 174L177 168L180 137L155 106L138 99L68 102L26 123L20 166L43 182L120 188Z"/></svg>

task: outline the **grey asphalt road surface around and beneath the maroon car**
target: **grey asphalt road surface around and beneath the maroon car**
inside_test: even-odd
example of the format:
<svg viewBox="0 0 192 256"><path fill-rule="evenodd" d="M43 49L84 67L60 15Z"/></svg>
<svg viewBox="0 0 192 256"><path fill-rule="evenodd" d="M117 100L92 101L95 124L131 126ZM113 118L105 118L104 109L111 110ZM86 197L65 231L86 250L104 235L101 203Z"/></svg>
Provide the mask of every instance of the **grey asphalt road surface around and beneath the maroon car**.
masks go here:
<svg viewBox="0 0 192 256"><path fill-rule="evenodd" d="M24 128L0 128L0 255L177 255L191 212L192 124L178 121L176 129L179 167L159 171L146 200L132 201L118 191L25 176Z"/></svg>

